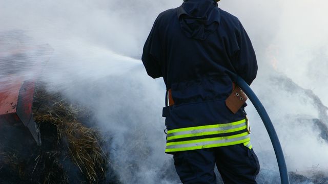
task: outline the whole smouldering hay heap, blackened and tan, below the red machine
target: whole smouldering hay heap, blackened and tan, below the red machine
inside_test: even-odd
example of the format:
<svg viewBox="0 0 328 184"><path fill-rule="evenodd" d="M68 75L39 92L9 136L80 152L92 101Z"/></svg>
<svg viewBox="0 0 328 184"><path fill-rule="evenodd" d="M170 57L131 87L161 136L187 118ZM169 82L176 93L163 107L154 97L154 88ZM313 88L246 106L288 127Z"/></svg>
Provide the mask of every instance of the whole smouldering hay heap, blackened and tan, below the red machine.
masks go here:
<svg viewBox="0 0 328 184"><path fill-rule="evenodd" d="M120 183L86 107L38 84L32 109L42 145L26 139L30 132L22 128L0 132L0 184Z"/></svg>

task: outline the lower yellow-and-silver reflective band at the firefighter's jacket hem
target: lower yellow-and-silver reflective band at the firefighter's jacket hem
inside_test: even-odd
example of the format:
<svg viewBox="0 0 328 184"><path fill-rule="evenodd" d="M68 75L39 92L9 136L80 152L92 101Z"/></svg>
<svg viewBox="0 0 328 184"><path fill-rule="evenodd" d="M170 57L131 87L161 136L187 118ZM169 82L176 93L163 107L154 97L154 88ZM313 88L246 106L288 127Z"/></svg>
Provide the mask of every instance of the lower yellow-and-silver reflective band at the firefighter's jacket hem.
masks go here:
<svg viewBox="0 0 328 184"><path fill-rule="evenodd" d="M196 150L196 149L203 149L203 148L214 148L220 146L230 146L230 145L250 142L250 140L251 137L249 133L244 132L231 136L215 137L215 138L200 139L200 140L193 140L193 141L171 142L171 143L167 143L165 152L187 151L187 150Z"/></svg>

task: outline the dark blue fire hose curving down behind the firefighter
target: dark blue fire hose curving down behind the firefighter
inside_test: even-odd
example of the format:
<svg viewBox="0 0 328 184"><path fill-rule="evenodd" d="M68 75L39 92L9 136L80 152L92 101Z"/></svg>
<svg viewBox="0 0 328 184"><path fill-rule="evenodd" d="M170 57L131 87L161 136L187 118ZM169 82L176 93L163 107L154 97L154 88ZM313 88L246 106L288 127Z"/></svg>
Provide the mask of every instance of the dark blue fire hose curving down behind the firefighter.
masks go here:
<svg viewBox="0 0 328 184"><path fill-rule="evenodd" d="M260 115L265 128L267 129L270 140L273 146L273 149L276 153L276 158L278 162L279 172L280 172L280 179L282 184L289 184L289 177L288 177L288 171L285 163L285 158L283 156L283 152L281 149L281 145L276 133L275 128L272 125L272 122L270 120L270 117L267 113L267 111L264 109L262 103L259 101L253 90L250 88L250 86L241 78L237 78L237 84L238 86L244 91L244 93L248 96L248 98L253 103L254 107L256 108L258 114Z"/></svg>

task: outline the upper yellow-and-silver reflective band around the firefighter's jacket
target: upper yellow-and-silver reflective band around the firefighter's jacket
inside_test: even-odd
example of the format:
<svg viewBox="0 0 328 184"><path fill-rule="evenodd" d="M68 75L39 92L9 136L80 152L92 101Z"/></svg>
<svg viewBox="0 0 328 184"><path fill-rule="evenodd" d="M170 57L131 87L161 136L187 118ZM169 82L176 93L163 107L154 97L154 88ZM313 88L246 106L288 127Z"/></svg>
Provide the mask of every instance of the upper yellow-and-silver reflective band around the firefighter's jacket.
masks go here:
<svg viewBox="0 0 328 184"><path fill-rule="evenodd" d="M210 125L213 126L213 125ZM168 133L167 140L181 139L186 137L201 136L201 135L214 135L220 133L231 133L247 128L246 122L232 126L219 126L215 125L215 128L203 128L190 131L180 131Z"/></svg>

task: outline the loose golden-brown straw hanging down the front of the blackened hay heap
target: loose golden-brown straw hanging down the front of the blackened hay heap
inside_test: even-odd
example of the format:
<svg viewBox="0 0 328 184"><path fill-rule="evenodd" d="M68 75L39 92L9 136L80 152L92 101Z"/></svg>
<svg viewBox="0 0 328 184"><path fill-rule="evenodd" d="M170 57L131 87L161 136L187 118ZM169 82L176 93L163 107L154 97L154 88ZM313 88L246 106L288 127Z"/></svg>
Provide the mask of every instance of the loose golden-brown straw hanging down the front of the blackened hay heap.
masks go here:
<svg viewBox="0 0 328 184"><path fill-rule="evenodd" d="M108 165L106 153L101 149L99 133L81 124L78 118L88 119L86 108L74 106L60 99L60 95L47 94L45 90L37 90L34 120L42 124L53 124L57 131L57 144L63 144L72 162L84 174L89 183L104 180ZM83 117L81 114L87 114Z"/></svg>

